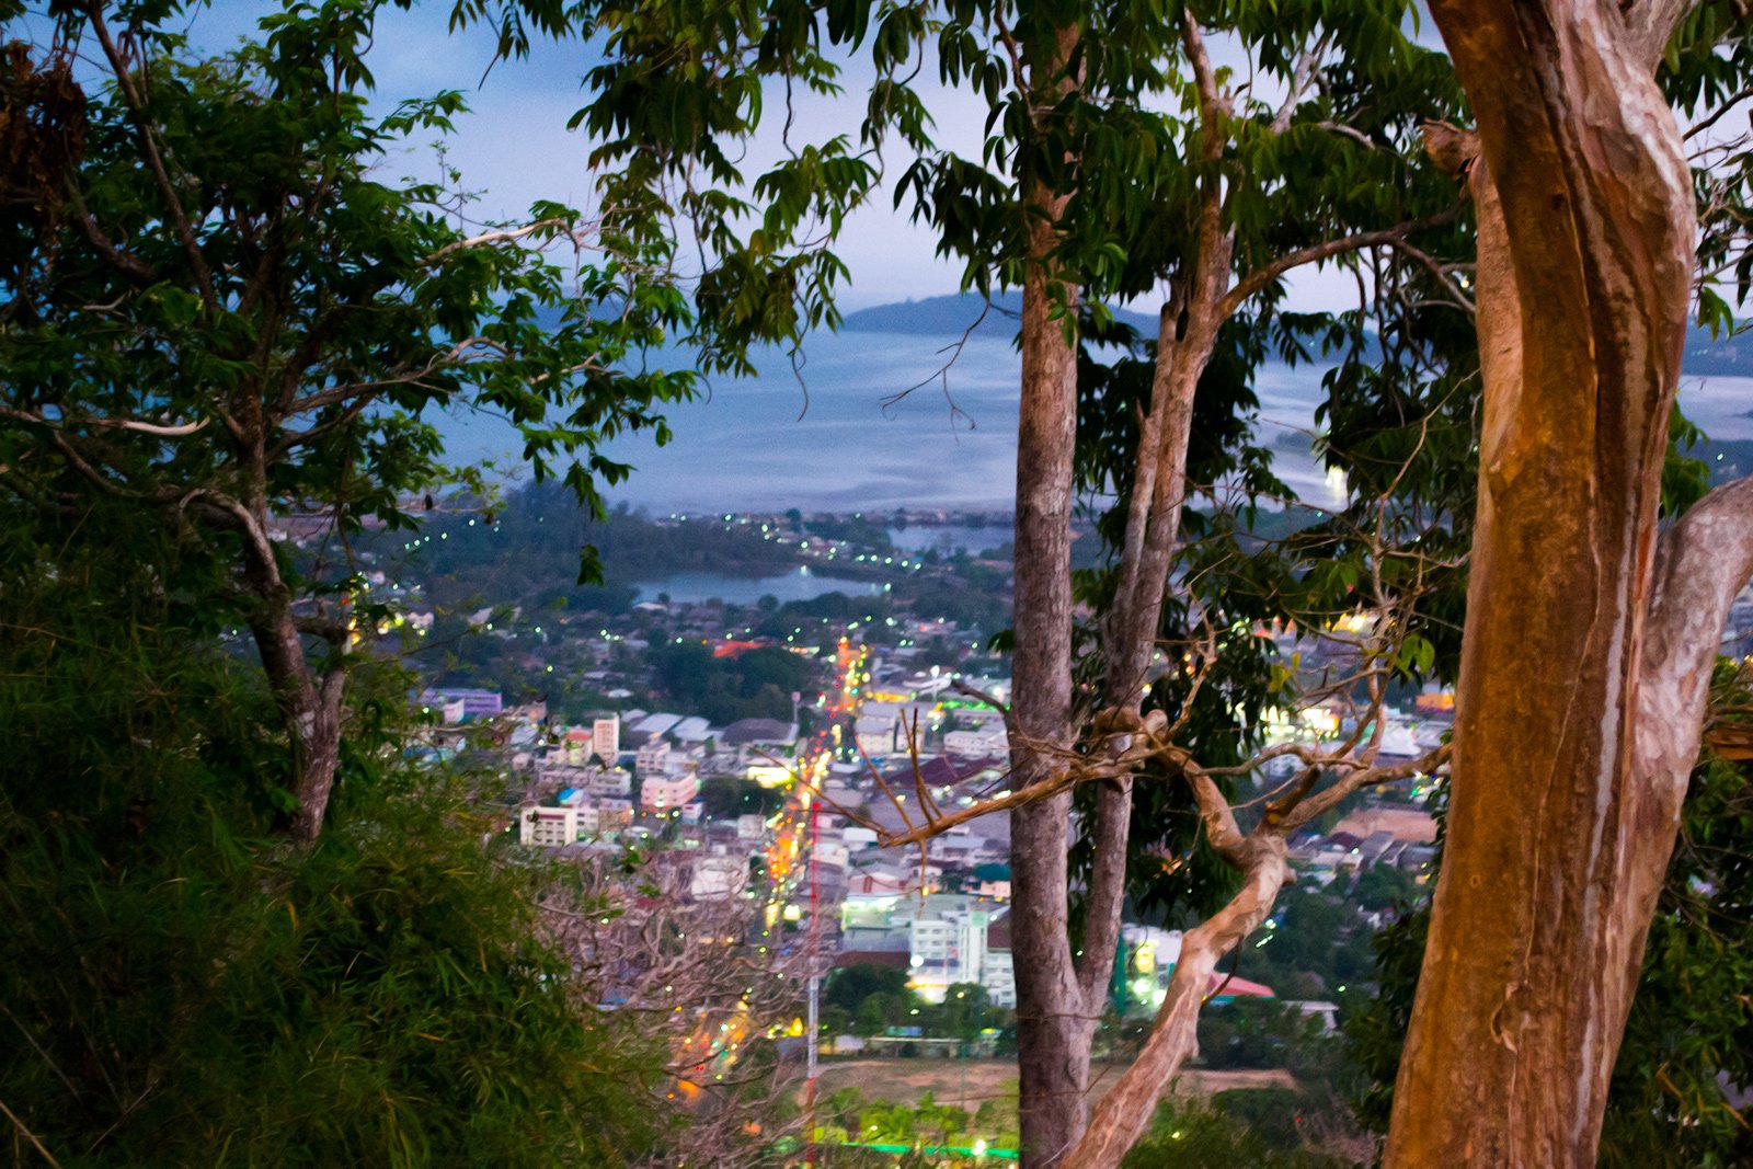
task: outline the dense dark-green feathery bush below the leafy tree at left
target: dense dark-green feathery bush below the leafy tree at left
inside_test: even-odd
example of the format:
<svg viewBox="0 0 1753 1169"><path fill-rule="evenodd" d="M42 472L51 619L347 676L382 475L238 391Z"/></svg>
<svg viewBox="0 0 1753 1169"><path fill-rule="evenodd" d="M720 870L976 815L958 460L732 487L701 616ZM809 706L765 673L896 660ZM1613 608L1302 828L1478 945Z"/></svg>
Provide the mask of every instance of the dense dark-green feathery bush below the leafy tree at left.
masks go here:
<svg viewBox="0 0 1753 1169"><path fill-rule="evenodd" d="M275 841L287 752L202 563L5 512L0 1099L63 1165L624 1164L661 1062L536 936L549 876L403 761L361 673L337 824ZM107 547L153 556L110 557ZM503 838L501 838L503 840Z"/></svg>

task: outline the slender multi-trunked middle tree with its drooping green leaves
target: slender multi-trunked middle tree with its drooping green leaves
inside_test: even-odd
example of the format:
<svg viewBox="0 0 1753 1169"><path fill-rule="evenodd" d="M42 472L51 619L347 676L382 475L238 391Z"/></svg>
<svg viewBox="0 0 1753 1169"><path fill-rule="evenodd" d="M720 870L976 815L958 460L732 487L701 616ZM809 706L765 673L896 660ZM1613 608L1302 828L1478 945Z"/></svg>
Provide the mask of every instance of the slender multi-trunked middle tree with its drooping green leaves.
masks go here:
<svg viewBox="0 0 1753 1169"><path fill-rule="evenodd" d="M1131 778L1155 754L1141 736L1143 682L1189 499L1201 375L1225 324L1257 298L1269 303L1299 265L1395 247L1427 273L1427 291L1464 301L1448 272L1408 240L1458 217L1451 186L1418 163L1413 140L1418 116L1451 105L1430 96L1446 68L1404 39L1402 7L1371 4L1343 14L1325 5L1117 12L1071 2L943 12L857 0L820 11L796 2L710 12L615 2L512 7L543 32L603 35L603 63L589 74L593 98L578 121L600 142L593 161L605 166L605 200L638 224L629 231L659 258L673 258L682 240L698 247L691 340L706 365L740 370L750 344L796 347L808 328L838 321L833 296L845 270L829 247L875 191L885 149L912 156L903 198L940 233L941 251L966 265L966 284L1022 287L1008 713L1011 787L1029 794L1010 804L1013 941L1024 1144L1038 1164L1054 1164L1083 1127L1092 1004L1104 995L1125 885ZM1248 44L1259 74L1285 84L1290 100L1267 103L1213 68L1206 25ZM508 53L528 47L521 21L501 26ZM784 158L745 177L735 159L763 110L778 105L766 102L770 93L838 91L831 47L869 54L859 140L796 142L787 117ZM989 107L990 138L978 159L933 140L929 110L912 88L933 56L945 82ZM1378 102L1376 91L1394 96ZM1416 110L1409 93L1420 95ZM1160 96L1185 100L1185 109L1176 117L1146 112ZM1287 217L1274 198L1292 186L1306 216ZM1097 631L1101 696L1085 703L1073 691L1069 575L1078 328L1083 317L1099 326L1106 300L1159 280L1169 298L1138 403L1141 431L1120 443L1124 473L1101 487L1122 492L1125 505L1117 587ZM1073 759L1090 761L1078 780L1069 778ZM1066 862L1069 787L1080 780L1101 782L1082 946ZM1220 796L1215 783L1199 790ZM1264 901L1211 936L1213 962L1234 945L1232 927L1246 932L1253 910L1264 913L1280 875L1267 866L1250 876ZM1196 953L1189 987L1204 960L1203 948ZM1196 1003L1180 995L1176 1010ZM1111 1141L1136 1136L1150 1111L1141 1104L1185 1057L1190 1034L1189 1022L1166 1062L1153 1057L1139 1071L1132 1085L1141 1095L1117 1099L1125 1120L1113 1118Z"/></svg>

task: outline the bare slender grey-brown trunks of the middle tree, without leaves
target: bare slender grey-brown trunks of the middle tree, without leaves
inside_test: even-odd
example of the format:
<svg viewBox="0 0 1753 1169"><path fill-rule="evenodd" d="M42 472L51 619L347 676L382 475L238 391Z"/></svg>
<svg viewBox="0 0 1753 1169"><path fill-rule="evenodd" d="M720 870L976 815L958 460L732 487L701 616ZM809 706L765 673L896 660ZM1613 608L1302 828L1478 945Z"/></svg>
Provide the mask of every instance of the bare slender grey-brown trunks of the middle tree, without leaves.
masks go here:
<svg viewBox="0 0 1753 1169"><path fill-rule="evenodd" d="M1182 47L1187 54L1199 100L1201 154L1210 165L1224 158L1231 140L1231 96L1220 84L1206 51L1204 35L1192 12L1178 19ZM1061 42L1069 56L1071 42ZM1276 126L1278 131L1283 126ZM1047 193L1034 193L1036 224L1052 224L1061 203ZM1115 1106L1097 1111L1083 1144L1083 1092L1089 1080L1090 1048L1096 1024L1106 1010L1108 983L1120 936L1125 899L1127 841L1132 813L1132 773L1143 727L1145 685L1150 677L1162 626L1164 599L1180 538L1182 508L1187 499L1187 450L1194 417L1194 396L1224 322L1255 293L1271 286L1285 272L1320 263L1348 251L1404 240L1406 235L1446 223L1455 212L1425 221L1408 221L1381 231L1345 237L1292 252L1266 268L1236 279L1236 237L1224 219L1224 182L1213 174L1201 193L1196 242L1182 272L1171 282L1169 301L1159 319L1157 363L1150 401L1139 428L1134 454L1127 522L1122 536L1115 601L1101 631L1104 680L1101 713L1096 719L1097 754L1085 757L1087 769L1101 769L1094 818L1087 825L1092 845L1089 887L1083 890L1082 952L1069 953L1066 899L1069 871L1066 864L1066 827L1069 790L1017 804L1011 829L1013 855L1013 948L1017 957L1018 1059L1022 1066L1020 1106L1024 1157L1033 1165L1055 1165L1066 1150L1076 1148L1078 1165L1117 1164L1148 1122L1155 1101L1166 1090L1180 1064L1192 1052L1192 1029L1204 997L1204 981L1196 978L1201 962L1215 964L1259 918L1271 911L1281 882L1283 834L1280 825L1264 825L1259 840L1241 845L1236 836L1231 862L1243 873L1245 892L1238 894L1217 918L1201 927L1189 950L1187 971L1178 967L1169 1001L1159 1013L1146 1048L1148 1059L1127 1069L1110 1092ZM1047 256L1045 235L1033 238L1033 256ZM1011 762L1020 776L1013 789L1064 776L1064 762L1050 759L1041 747L1066 757L1075 747L1069 706L1071 670L1071 596L1069 559L1059 559L1062 545L1036 528L1069 522L1071 443L1075 440L1075 377L1069 345L1050 344L1045 321L1045 289L1024 289L1024 417L1017 459L1017 657L1015 708L1011 731L1018 745ZM1031 305L1034 307L1031 310ZM1038 412L1062 410L1055 419ZM1061 485L1064 494L1061 496ZM1050 499L1048 499L1050 496ZM1027 528L1027 531L1026 531ZM1061 580L1045 582L1041 571L1052 564ZM1045 647L1052 641L1052 661ZM1127 762L1127 761L1134 762ZM1217 789L1201 792L1201 803L1222 801ZM1304 792L1306 794L1306 792ZM1231 824L1234 834L1234 824ZM1271 857L1278 857L1276 862ZM1276 868L1274 868L1276 864ZM1252 890L1252 892L1250 892ZM1252 922L1252 924L1250 924ZM1239 929L1239 932L1238 932ZM1197 990L1189 990L1196 987ZM1075 1101L1075 1102L1073 1102ZM1122 1108L1118 1101L1129 1101ZM1129 1108L1141 1108L1134 1115Z"/></svg>

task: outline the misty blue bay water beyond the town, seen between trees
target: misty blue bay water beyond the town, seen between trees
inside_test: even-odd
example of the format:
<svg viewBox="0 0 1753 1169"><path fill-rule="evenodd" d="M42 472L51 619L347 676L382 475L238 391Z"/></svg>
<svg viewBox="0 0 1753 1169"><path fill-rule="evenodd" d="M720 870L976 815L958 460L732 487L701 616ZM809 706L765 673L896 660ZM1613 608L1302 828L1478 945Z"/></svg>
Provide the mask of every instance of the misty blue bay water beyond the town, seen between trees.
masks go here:
<svg viewBox="0 0 1753 1169"><path fill-rule="evenodd" d="M1008 337L982 329L941 380L954 338L917 333L822 333L803 351L803 386L782 351L754 356L757 377L715 379L706 396L671 407L675 438L622 436L607 454L633 475L610 492L654 512L894 508L1010 510L1017 475L1020 359ZM1304 499L1338 501L1339 484L1309 454L1324 366L1269 363L1255 379L1259 438L1278 475ZM806 391L805 391L806 387ZM954 400L955 410L952 410ZM1753 379L1686 377L1681 407L1716 440L1753 440ZM801 417L799 417L801 414ZM447 426L459 457L521 463L505 428Z"/></svg>

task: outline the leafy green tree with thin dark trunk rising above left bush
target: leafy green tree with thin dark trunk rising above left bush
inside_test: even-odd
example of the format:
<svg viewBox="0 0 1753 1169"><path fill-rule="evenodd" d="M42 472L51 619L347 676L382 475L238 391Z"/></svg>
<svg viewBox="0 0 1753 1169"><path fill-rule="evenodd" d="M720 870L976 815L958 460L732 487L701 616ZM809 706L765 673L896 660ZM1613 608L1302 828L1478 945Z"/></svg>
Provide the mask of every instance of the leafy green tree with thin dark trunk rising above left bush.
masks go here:
<svg viewBox="0 0 1753 1169"><path fill-rule="evenodd" d="M661 340L675 294L578 212L468 235L459 193L382 179L463 100L366 110L377 0L295 4L210 60L172 32L184 7L58 5L33 25L49 40L5 49L0 485L42 508L128 501L231 568L210 603L251 629L295 759L287 831L310 843L347 652L386 615L352 540L412 526L445 482L484 491L445 466L433 415L503 415L535 473L594 507L628 470L596 443L661 440L654 407L691 380L615 370ZM98 63L95 96L75 56ZM319 547L295 552L305 536Z"/></svg>

